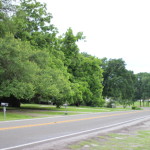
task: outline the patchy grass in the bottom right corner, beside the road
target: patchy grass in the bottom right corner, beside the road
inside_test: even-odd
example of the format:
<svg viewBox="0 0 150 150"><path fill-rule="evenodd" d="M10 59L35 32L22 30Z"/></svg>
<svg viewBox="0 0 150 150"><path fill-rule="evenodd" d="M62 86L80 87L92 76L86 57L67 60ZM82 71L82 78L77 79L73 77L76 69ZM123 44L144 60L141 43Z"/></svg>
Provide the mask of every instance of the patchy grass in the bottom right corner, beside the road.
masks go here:
<svg viewBox="0 0 150 150"><path fill-rule="evenodd" d="M149 150L150 130L134 135L109 134L69 146L72 150Z"/></svg>

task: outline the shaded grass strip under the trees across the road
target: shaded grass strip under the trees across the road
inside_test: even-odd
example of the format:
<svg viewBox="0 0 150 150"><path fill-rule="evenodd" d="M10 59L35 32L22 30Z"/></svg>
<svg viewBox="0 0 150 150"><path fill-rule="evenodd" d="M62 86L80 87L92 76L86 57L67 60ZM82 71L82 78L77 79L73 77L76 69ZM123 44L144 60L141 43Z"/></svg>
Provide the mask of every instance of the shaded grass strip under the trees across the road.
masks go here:
<svg viewBox="0 0 150 150"><path fill-rule="evenodd" d="M40 104L22 104L21 108L7 108L5 120L18 120L18 119L32 119L50 116L63 116L82 113L96 113L96 112L111 112L111 111L127 111L130 108L100 108L100 107L73 107L68 106L67 109L64 107L56 108L51 105L40 105ZM4 115L2 107L0 107L0 121L4 121Z"/></svg>

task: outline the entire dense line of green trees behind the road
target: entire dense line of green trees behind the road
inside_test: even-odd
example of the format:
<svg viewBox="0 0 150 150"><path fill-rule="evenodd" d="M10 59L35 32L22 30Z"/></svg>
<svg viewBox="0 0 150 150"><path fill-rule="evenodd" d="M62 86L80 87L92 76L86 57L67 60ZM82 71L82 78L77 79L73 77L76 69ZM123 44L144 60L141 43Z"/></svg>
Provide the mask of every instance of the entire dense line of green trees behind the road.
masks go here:
<svg viewBox="0 0 150 150"><path fill-rule="evenodd" d="M36 0L0 0L1 102L103 106L109 98L126 107L150 98L149 73L134 75L122 59L80 53L83 34L69 28L58 36L51 19Z"/></svg>

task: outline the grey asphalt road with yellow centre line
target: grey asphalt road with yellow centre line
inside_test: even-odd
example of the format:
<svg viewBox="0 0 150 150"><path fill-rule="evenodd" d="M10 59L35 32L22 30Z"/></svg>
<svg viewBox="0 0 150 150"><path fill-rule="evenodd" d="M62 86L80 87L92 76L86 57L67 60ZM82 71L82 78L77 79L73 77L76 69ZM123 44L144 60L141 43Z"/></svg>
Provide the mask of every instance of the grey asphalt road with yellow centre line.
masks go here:
<svg viewBox="0 0 150 150"><path fill-rule="evenodd" d="M145 117L150 118L150 110L0 122L0 149L22 149L28 145L88 134Z"/></svg>

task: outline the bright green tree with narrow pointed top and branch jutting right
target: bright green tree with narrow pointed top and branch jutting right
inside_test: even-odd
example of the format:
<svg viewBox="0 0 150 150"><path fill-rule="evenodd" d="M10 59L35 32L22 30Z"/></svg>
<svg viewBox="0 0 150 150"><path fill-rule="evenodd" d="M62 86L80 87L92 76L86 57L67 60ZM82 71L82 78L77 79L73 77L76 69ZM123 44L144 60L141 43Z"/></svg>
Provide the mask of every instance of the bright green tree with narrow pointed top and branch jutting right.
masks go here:
<svg viewBox="0 0 150 150"><path fill-rule="evenodd" d="M74 35L72 29L69 28L60 39L60 50L65 56L64 64L71 75L72 99L77 106L81 104L101 106L104 104L101 61L90 55L88 57L79 53L76 42L84 38L83 33L79 32Z"/></svg>

